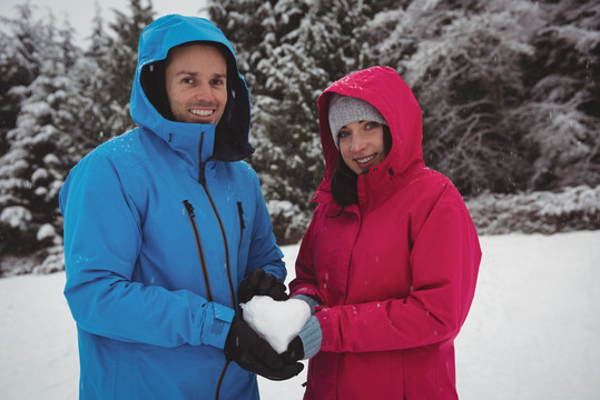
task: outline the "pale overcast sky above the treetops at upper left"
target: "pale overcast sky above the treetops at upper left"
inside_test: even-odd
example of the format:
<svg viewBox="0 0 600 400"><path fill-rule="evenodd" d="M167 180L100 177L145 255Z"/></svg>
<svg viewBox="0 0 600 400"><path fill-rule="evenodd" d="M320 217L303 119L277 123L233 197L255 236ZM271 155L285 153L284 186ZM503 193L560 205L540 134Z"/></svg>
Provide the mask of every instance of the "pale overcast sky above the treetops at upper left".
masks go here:
<svg viewBox="0 0 600 400"><path fill-rule="evenodd" d="M146 6L148 0L142 0ZM17 4L24 3L26 0L0 0L0 16L13 18L17 16ZM91 21L96 12L95 0L30 0L37 6L37 16L47 14L48 9L52 11L57 21L68 18L76 31L76 40L86 43L86 38L91 33ZM118 9L125 13L129 12L128 0L98 0L105 21L114 18L112 9ZM157 12L156 18L169 13L180 13L185 16L207 17L206 12L200 12L206 4L206 0L151 0L153 8Z"/></svg>

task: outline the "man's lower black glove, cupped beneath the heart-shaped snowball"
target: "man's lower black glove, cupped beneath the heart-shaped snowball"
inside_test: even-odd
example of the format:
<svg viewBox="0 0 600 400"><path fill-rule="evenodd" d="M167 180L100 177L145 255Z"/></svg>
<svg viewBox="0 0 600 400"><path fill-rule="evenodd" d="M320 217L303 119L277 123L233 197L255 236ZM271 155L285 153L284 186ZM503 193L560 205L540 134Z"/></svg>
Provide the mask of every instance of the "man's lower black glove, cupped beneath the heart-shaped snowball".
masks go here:
<svg viewBox="0 0 600 400"><path fill-rule="evenodd" d="M304 368L301 362L285 362L283 356L237 317L232 321L224 352L227 361L235 361L245 370L271 380L289 379Z"/></svg>

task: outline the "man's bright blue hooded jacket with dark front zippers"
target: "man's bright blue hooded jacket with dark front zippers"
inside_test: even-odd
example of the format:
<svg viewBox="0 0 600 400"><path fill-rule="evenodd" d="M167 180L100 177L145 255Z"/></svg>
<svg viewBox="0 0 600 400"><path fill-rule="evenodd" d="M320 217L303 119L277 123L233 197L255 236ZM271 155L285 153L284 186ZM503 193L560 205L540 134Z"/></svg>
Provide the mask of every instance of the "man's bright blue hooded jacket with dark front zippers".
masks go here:
<svg viewBox="0 0 600 400"><path fill-rule="evenodd" d="M228 59L217 143L213 124L165 118L163 72L151 76L170 48L197 40ZM258 178L240 161L253 151L249 99L223 33L200 18L153 22L130 111L138 128L86 156L60 192L80 398L214 398L239 282L256 268L286 274ZM220 399L257 398L256 376L232 363Z"/></svg>

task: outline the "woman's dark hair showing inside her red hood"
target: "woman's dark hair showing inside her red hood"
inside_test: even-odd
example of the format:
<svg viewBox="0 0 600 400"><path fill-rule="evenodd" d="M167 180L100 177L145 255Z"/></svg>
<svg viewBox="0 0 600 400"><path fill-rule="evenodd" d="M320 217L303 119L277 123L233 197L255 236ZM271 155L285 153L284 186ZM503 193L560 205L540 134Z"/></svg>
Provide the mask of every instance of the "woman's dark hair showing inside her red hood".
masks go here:
<svg viewBox="0 0 600 400"><path fill-rule="evenodd" d="M382 127L383 149L385 151L385 156L387 156L392 149L392 133L390 132L390 128L384 124ZM333 198L340 203L340 206L342 206L342 210L344 210L346 206L358 203L358 190L356 188L357 180L358 174L346 166L344 159L342 158L342 153L338 153L337 163L332 177L331 189Z"/></svg>

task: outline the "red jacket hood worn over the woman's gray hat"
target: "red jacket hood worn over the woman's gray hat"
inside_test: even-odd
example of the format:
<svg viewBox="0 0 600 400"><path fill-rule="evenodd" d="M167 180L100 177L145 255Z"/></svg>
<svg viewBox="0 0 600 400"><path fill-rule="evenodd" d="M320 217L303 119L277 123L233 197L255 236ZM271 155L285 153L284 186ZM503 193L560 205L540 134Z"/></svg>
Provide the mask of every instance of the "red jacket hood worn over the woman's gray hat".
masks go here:
<svg viewBox="0 0 600 400"><path fill-rule="evenodd" d="M392 148L377 169L402 174L412 164L424 164L421 107L409 86L388 67L372 67L335 81L318 98L321 143L325 156L325 179L321 189L329 191L340 151L329 128L329 101L333 93L352 96L375 107L390 127Z"/></svg>

